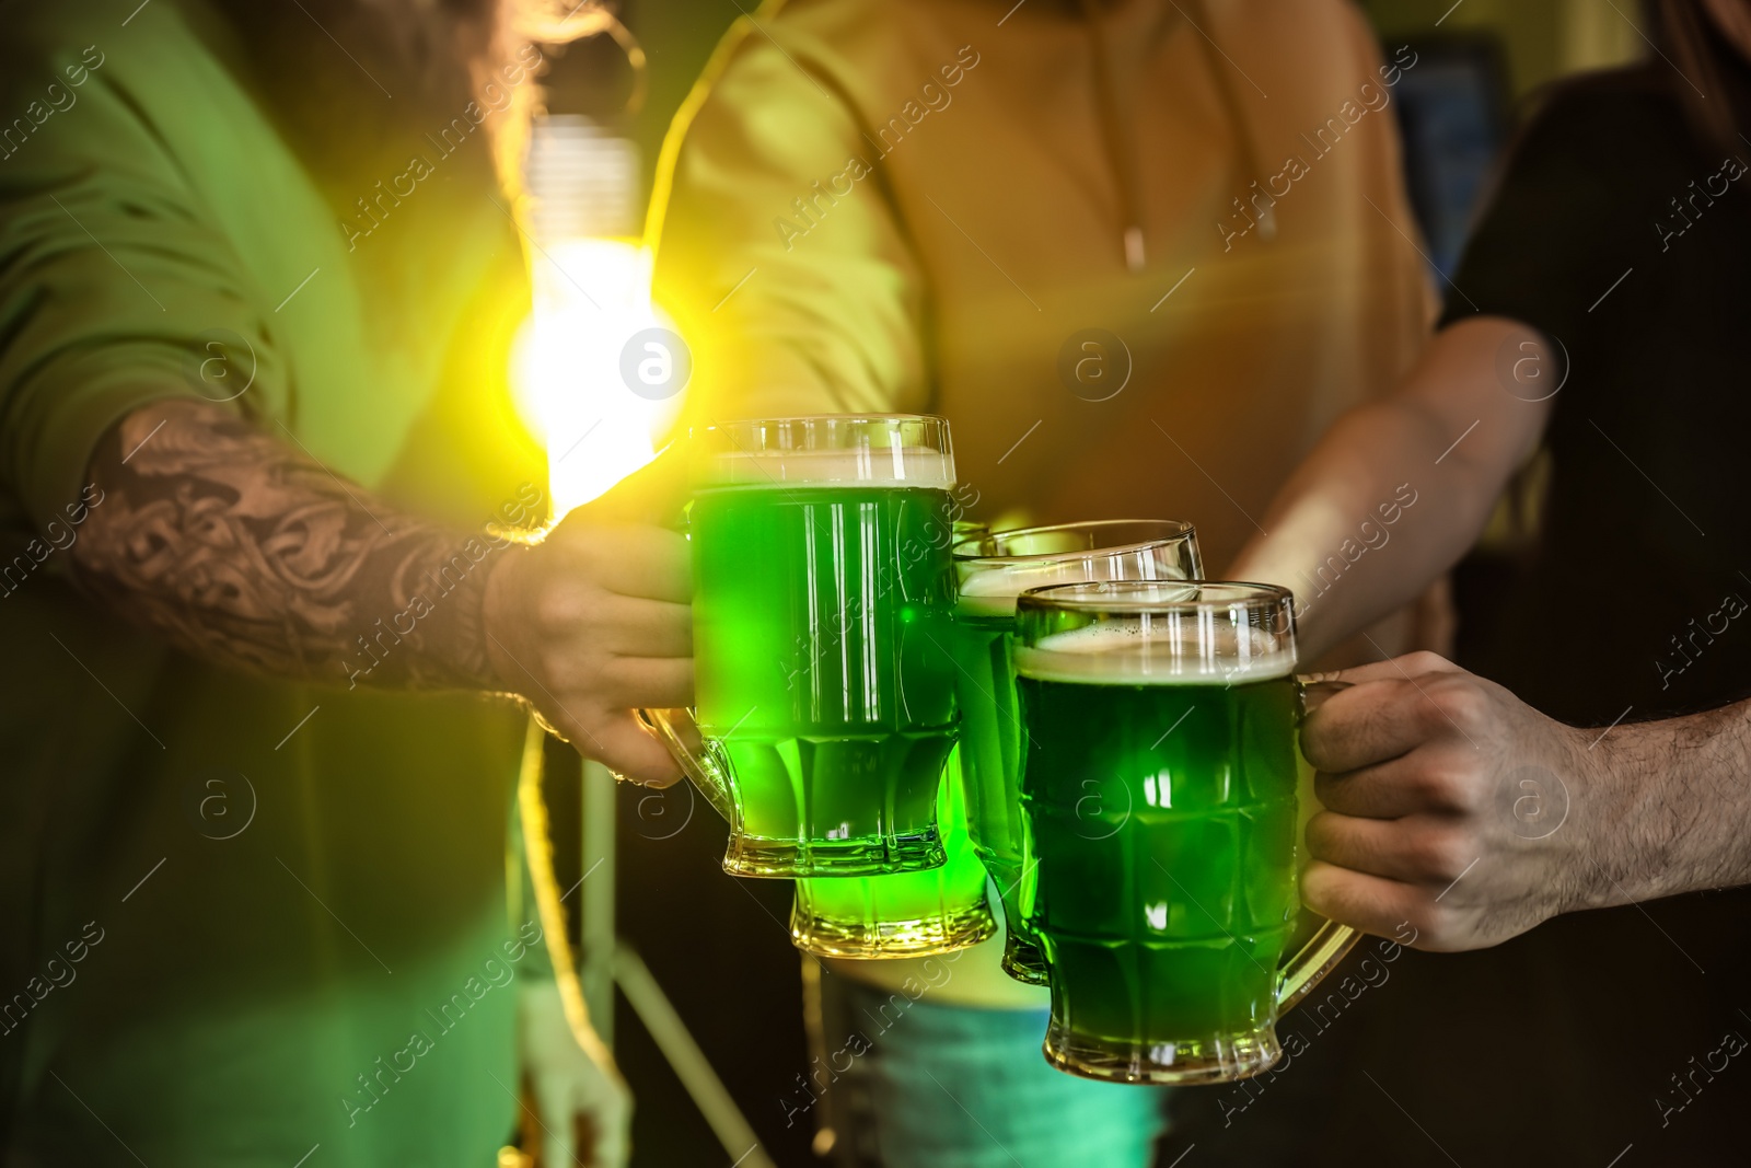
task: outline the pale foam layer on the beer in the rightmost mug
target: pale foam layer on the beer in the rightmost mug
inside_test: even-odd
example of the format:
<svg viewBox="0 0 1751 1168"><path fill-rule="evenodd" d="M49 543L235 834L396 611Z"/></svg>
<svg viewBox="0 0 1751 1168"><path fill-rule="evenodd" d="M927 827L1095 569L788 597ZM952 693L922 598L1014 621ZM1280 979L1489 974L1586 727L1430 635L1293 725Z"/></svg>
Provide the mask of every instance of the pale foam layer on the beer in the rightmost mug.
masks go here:
<svg viewBox="0 0 1751 1168"><path fill-rule="evenodd" d="M1016 671L1042 681L1082 685L1189 685L1269 681L1296 671L1282 634L1245 623L1199 620L1210 613L1159 613L1147 622L1096 623L1016 646Z"/></svg>

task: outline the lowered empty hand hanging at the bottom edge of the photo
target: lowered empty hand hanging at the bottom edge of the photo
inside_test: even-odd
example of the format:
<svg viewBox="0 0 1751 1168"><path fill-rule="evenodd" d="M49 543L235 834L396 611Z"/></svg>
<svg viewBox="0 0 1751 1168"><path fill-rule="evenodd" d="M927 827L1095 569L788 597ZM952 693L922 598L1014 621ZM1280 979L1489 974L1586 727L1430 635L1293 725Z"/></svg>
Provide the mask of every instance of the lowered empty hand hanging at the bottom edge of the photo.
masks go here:
<svg viewBox="0 0 1751 1168"><path fill-rule="evenodd" d="M559 986L522 986L517 1030L534 1093L541 1168L625 1168L632 1140L632 1093L595 1037L580 1044L566 1021Z"/></svg>

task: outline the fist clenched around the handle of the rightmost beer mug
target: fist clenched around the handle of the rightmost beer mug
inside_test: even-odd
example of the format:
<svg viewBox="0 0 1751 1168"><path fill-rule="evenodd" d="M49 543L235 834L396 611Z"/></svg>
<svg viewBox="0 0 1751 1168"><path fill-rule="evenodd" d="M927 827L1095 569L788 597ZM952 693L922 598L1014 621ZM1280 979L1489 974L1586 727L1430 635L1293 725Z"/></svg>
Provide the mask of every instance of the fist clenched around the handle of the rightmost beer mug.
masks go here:
<svg viewBox="0 0 1751 1168"><path fill-rule="evenodd" d="M1308 821L1310 909L1420 949L1481 949L1597 898L1588 828L1609 820L1597 732L1560 725L1434 653L1350 669L1301 730L1326 811Z"/></svg>

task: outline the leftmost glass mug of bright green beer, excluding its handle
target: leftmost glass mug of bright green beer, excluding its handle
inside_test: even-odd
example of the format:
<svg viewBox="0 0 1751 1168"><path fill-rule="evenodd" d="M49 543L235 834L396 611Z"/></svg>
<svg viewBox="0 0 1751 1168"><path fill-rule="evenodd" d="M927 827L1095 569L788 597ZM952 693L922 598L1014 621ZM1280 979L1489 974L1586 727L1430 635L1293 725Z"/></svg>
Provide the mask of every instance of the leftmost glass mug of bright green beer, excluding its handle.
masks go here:
<svg viewBox="0 0 1751 1168"><path fill-rule="evenodd" d="M947 424L725 429L688 518L695 716L728 788L725 869L937 867L956 732Z"/></svg>

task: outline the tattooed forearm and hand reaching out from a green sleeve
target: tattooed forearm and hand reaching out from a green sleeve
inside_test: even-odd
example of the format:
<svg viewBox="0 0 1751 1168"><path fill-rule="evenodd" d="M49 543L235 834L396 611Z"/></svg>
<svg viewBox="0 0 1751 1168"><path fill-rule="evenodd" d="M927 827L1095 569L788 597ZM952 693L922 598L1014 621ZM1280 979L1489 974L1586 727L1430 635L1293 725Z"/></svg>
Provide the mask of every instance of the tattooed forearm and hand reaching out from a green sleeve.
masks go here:
<svg viewBox="0 0 1751 1168"><path fill-rule="evenodd" d="M692 700L686 543L625 501L536 545L455 531L191 399L131 412L89 475L79 583L177 648L348 688L518 693L583 753L676 777L630 709Z"/></svg>

